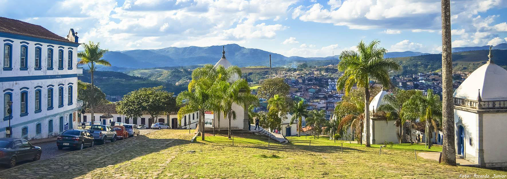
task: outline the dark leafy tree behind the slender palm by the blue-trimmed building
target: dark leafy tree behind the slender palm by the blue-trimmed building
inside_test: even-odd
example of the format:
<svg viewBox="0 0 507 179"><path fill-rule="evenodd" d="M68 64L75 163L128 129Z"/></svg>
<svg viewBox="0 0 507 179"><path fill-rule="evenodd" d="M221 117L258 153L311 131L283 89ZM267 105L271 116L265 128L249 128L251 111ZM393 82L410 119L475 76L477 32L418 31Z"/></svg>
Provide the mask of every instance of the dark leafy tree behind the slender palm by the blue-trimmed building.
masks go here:
<svg viewBox="0 0 507 179"><path fill-rule="evenodd" d="M104 104L109 103L105 99L105 94L102 93L99 87L93 86L93 90L90 83L78 80L78 100L84 102L83 107L89 109L91 104Z"/></svg>

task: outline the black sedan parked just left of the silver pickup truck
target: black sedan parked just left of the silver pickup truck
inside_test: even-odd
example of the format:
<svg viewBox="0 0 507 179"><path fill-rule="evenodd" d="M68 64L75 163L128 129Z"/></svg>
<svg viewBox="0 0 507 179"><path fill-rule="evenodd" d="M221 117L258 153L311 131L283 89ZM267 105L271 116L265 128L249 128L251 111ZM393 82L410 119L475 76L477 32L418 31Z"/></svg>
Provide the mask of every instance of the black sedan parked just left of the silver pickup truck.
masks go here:
<svg viewBox="0 0 507 179"><path fill-rule="evenodd" d="M64 147L81 150L85 147L93 147L94 143L92 134L84 129L67 129L56 138L58 150Z"/></svg>

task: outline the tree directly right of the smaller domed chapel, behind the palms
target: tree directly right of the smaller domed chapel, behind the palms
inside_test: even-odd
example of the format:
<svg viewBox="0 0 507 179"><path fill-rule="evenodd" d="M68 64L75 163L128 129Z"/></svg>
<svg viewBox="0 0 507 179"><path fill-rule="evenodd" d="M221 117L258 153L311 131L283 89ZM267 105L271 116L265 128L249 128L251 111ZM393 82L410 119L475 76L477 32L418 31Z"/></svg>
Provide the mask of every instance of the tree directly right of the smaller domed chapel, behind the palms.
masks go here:
<svg viewBox="0 0 507 179"><path fill-rule="evenodd" d="M394 93L385 95L382 101L385 103L380 105L377 108L377 111L386 112L386 117L388 120L396 120L394 123L397 127L400 127L398 133L398 141L399 143L403 143L403 139L405 137L405 121L403 115L403 103L409 101L410 97L416 94L415 90L405 91L400 88L396 88Z"/></svg>

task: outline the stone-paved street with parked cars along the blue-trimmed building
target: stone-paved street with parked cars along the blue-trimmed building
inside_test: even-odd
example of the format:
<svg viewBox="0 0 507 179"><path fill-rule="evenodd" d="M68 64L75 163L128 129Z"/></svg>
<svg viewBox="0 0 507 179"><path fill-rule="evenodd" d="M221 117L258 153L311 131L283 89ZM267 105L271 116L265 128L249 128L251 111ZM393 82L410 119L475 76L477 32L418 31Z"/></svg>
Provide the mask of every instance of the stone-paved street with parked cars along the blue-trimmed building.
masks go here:
<svg viewBox="0 0 507 179"><path fill-rule="evenodd" d="M140 135L147 135L147 133L154 132L154 131L157 131L157 129L142 129L142 130L140 130ZM140 139L138 139L138 138L140 138ZM138 144L138 142L144 141L146 139L147 139L146 136L139 136L139 137L136 136L134 138L129 138L129 139L126 139L124 141L117 141L115 143L107 142L104 145L96 145L93 148L85 149L83 151L76 151L76 152L68 154L68 155L57 156L55 160L59 161L58 160L59 157L81 156L82 155L81 153L84 152L84 151L90 151L90 152L92 152L92 151L93 152L98 151L97 154L101 154L102 152L107 151L107 150L114 151L114 150L112 150L112 148L116 148L118 146L120 146L119 148L121 149L121 148L123 148L122 147L123 145L126 145L126 146L136 145L136 144ZM145 141L145 142L148 142L148 141ZM116 143L118 143L118 144L116 144ZM132 143L134 143L134 144L132 144ZM113 145L113 146L110 146L110 145ZM19 166L19 165L22 165L22 166L19 166L18 168L29 167L29 166L25 166L25 165L33 165L33 164L36 164L36 163L39 163L39 165L40 165L41 162L45 162L45 160L52 159L56 155L60 155L60 154L64 154L64 153L75 151L74 149L69 149L69 148L64 148L63 150L58 150L58 148L56 147L55 142L41 143L41 144L37 144L35 146L39 146L39 147L41 147L43 149L43 154L41 156L41 160L37 161L37 162L30 162L30 161L20 162L20 163L17 164L17 166ZM88 158L88 157L85 157L85 158ZM54 165L58 166L58 165L61 165L61 164L55 163ZM0 178L4 178L5 175L6 175L6 173L14 171L16 168L13 168L13 169L11 169L11 171L7 171L5 173L2 172L5 169L7 169L7 168L5 168L5 166L0 166ZM56 177L56 178L60 178L60 177Z"/></svg>

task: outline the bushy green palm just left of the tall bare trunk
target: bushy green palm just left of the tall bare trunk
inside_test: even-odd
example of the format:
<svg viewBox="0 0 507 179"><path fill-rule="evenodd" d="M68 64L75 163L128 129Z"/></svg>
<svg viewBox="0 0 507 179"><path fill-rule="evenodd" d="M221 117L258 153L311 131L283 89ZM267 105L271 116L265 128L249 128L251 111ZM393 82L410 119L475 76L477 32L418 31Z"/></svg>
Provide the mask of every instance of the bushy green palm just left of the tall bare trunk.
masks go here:
<svg viewBox="0 0 507 179"><path fill-rule="evenodd" d="M442 118L442 103L440 101L440 97L438 95L434 95L432 89L428 89L426 96L422 96L421 93L417 93L412 96L409 101L404 103L404 106L407 109L412 109L404 111L404 116L409 118L419 117L421 122L425 122L425 143L428 149L430 149L430 130L437 130L440 119Z"/></svg>

